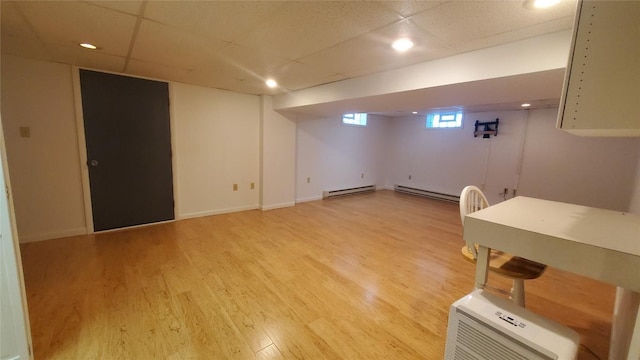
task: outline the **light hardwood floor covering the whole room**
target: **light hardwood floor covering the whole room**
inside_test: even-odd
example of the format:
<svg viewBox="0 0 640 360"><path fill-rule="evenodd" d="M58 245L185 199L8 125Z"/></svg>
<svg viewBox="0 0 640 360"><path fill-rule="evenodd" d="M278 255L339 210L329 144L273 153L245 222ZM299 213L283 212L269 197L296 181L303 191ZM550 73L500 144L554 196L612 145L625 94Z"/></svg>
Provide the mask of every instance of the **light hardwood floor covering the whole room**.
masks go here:
<svg viewBox="0 0 640 360"><path fill-rule="evenodd" d="M462 244L457 204L392 191L24 244L35 357L442 359ZM606 359L613 286L526 286Z"/></svg>

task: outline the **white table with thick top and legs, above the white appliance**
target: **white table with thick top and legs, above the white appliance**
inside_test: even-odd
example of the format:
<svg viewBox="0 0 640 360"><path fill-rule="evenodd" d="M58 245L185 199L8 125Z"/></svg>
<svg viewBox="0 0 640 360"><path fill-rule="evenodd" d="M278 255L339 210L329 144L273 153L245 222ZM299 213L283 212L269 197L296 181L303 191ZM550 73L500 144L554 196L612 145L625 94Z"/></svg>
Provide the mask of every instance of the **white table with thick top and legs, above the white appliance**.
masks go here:
<svg viewBox="0 0 640 360"><path fill-rule="evenodd" d="M467 215L464 239L477 288L491 249L618 286L609 359L640 359L640 215L519 196Z"/></svg>

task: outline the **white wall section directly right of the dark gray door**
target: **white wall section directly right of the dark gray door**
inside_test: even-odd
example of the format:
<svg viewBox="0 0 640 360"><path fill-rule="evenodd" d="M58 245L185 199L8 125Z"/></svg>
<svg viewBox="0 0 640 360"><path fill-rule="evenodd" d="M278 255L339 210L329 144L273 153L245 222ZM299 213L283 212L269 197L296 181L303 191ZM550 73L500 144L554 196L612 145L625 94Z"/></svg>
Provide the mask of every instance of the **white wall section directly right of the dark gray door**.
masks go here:
<svg viewBox="0 0 640 360"><path fill-rule="evenodd" d="M176 217L258 208L259 97L179 83L170 92Z"/></svg>

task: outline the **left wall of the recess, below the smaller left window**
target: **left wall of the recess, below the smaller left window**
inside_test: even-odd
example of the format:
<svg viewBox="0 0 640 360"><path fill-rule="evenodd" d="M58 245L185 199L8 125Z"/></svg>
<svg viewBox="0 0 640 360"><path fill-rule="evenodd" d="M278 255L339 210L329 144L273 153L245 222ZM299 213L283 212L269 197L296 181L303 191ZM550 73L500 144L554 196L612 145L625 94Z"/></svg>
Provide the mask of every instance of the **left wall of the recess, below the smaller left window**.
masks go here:
<svg viewBox="0 0 640 360"><path fill-rule="evenodd" d="M344 125L339 116L298 121L296 201L320 199L326 190L384 186L389 119L369 115L367 123Z"/></svg>

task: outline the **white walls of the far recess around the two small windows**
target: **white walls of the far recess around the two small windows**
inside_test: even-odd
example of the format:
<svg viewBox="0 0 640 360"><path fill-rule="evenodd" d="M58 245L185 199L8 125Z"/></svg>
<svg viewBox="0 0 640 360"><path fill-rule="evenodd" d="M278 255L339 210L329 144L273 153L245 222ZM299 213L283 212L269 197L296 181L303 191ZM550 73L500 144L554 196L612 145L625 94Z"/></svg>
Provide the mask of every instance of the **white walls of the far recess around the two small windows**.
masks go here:
<svg viewBox="0 0 640 360"><path fill-rule="evenodd" d="M640 139L570 135L555 128L556 117L555 109L467 113L459 130L427 130L424 116L380 117L366 128L337 118L300 121L297 200L370 182L453 195L475 184L491 203L503 201L506 187L509 197L516 188L518 195L627 211ZM498 136L473 137L475 120L496 118ZM366 168L378 171L375 181L358 178Z"/></svg>

